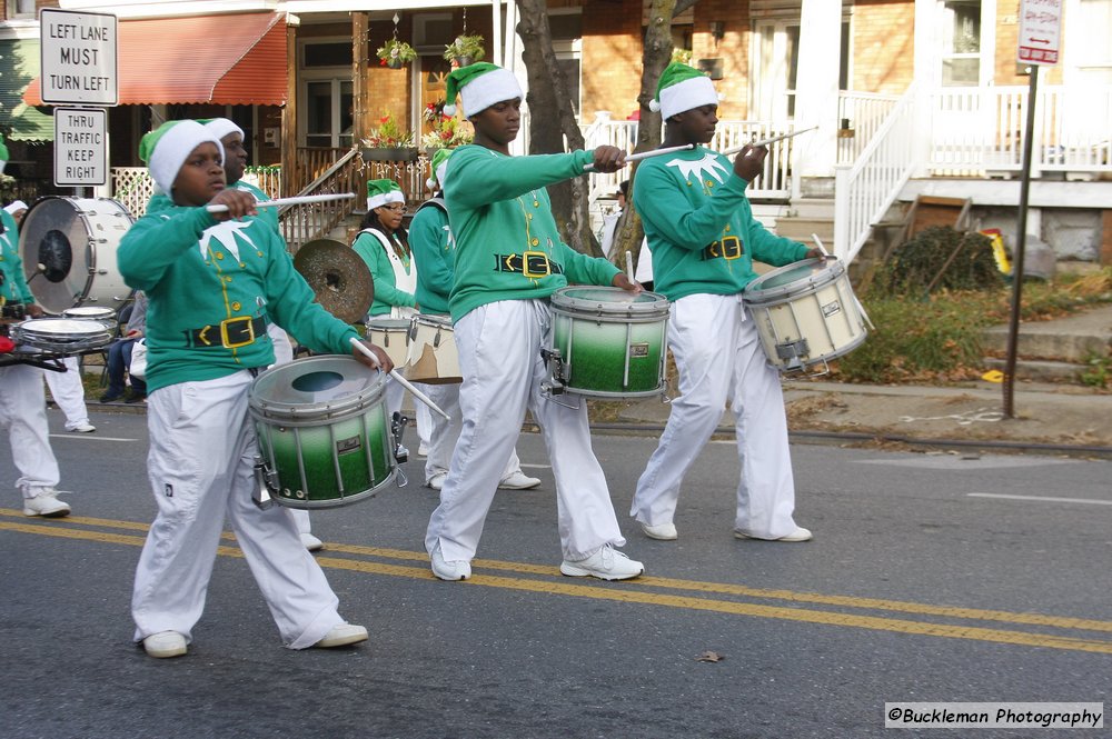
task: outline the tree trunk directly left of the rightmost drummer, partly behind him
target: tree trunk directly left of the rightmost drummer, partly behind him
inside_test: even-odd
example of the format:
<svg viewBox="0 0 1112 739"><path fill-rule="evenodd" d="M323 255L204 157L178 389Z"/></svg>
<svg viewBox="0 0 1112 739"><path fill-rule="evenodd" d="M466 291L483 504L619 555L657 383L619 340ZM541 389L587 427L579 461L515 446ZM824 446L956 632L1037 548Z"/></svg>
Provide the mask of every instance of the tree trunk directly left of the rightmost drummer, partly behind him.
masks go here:
<svg viewBox="0 0 1112 739"><path fill-rule="evenodd" d="M641 94L637 96L637 101L641 103L641 121L637 124L636 151L648 151L661 146L661 113L653 112L648 102L656 97L656 84L661 79L661 73L672 61L672 18L695 2L696 0L678 0L678 2L677 0L653 0L649 8L644 51L642 52ZM635 166L629 174L629 194L626 199L629 204L622 213L622 220L614 238L616 244L614 262L622 269L627 269L626 252L633 257L634 264L637 263L641 241L645 237L641 216L634 207L633 180L636 176L637 168Z"/></svg>

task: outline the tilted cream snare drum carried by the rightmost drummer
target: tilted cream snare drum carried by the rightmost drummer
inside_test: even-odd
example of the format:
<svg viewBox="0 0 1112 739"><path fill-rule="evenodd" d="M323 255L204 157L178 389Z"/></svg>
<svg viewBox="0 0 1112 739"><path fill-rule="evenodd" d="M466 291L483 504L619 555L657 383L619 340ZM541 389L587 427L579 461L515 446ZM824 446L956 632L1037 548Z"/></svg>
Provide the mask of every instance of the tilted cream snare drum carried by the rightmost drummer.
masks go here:
<svg viewBox="0 0 1112 739"><path fill-rule="evenodd" d="M803 371L855 349L867 318L837 259L804 259L762 274L742 293L768 361L784 372Z"/></svg>

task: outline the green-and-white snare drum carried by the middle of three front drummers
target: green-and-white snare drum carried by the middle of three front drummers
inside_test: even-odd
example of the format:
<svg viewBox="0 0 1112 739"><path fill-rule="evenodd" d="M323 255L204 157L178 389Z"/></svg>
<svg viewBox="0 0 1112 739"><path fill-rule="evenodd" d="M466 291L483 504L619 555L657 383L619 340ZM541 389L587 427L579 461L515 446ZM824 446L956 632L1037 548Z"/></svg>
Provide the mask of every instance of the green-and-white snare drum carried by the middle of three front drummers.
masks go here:
<svg viewBox="0 0 1112 739"><path fill-rule="evenodd" d="M655 292L568 287L553 293L553 348L568 392L639 398L664 392L668 300Z"/></svg>

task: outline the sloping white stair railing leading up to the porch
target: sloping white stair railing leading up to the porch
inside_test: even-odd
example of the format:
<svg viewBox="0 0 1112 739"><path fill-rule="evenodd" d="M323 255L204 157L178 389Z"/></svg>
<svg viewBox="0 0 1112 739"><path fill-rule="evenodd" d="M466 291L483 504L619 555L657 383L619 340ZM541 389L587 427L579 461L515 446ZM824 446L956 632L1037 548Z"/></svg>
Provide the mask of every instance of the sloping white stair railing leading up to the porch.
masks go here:
<svg viewBox="0 0 1112 739"><path fill-rule="evenodd" d="M900 98L887 120L852 166L835 168L834 253L848 264L868 239L873 223L895 201L914 171L914 86Z"/></svg>

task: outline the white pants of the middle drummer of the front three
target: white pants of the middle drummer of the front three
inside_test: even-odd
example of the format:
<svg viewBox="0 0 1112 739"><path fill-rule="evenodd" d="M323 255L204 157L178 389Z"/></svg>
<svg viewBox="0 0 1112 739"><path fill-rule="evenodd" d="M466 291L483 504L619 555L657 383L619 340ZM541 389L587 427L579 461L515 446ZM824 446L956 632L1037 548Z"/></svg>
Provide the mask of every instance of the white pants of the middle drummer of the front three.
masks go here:
<svg viewBox="0 0 1112 739"><path fill-rule="evenodd" d="M446 560L475 557L526 409L542 429L556 477L557 528L565 558L583 559L604 545L625 543L606 478L590 449L587 405L567 408L540 392L546 376L540 349L550 323L552 310L542 300L488 303L455 323L464 427L440 505L425 533L425 548L431 551L439 543Z"/></svg>

